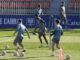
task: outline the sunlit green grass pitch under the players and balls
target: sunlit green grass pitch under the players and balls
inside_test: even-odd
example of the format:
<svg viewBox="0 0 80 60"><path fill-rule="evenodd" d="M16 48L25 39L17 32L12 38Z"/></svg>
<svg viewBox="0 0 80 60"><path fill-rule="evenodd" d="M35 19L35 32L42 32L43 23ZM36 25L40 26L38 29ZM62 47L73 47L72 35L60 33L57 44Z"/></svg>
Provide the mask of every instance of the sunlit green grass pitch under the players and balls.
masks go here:
<svg viewBox="0 0 80 60"><path fill-rule="evenodd" d="M15 37L10 37L14 28L6 29L0 28L0 54L6 45L9 45L10 48L7 51L5 56L0 55L0 60L58 60L58 49L55 47L55 56L51 57L52 51L46 47L44 42L44 47L39 48L40 41L38 35L33 35L31 32L33 29L28 29L31 35L31 39L28 39L27 34L23 39L23 45L27 49L24 57L13 56L15 51L15 46L13 46L13 40ZM49 39L49 33L47 33L47 39ZM66 55L71 55L71 60L80 60L80 29L69 29L64 30L64 35L61 37L61 47L64 51L64 60ZM19 53L22 49L19 49Z"/></svg>

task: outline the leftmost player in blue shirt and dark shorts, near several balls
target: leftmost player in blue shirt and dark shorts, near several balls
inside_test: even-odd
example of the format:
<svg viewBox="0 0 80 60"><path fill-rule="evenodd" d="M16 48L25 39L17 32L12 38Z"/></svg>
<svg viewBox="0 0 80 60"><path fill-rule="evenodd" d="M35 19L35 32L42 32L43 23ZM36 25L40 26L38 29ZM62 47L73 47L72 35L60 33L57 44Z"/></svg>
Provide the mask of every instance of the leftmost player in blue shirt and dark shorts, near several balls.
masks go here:
<svg viewBox="0 0 80 60"><path fill-rule="evenodd" d="M23 37L24 37L24 31L27 32L28 34L28 37L30 38L30 35L29 35L29 32L28 30L26 29L26 27L22 24L22 21L21 20L18 20L18 26L17 26L17 29L16 31L14 32L13 36L15 36L16 32L18 32L17 34L17 37L15 38L13 44L17 47L16 48L16 51L18 51L19 49L19 46L17 45L17 43L19 43L19 45L23 48L23 52L26 51L26 49L24 48L23 44L22 44L22 40L23 40Z"/></svg>

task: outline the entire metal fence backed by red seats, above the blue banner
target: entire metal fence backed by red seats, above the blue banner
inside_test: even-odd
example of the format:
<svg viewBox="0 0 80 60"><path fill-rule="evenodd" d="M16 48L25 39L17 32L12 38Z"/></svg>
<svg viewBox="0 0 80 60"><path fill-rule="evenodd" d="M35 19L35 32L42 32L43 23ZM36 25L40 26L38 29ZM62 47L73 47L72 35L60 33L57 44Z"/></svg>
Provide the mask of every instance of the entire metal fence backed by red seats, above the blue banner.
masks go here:
<svg viewBox="0 0 80 60"><path fill-rule="evenodd" d="M80 15L80 0L0 0L0 15L34 14L38 4L44 13L57 15L61 1L66 2L68 15Z"/></svg>

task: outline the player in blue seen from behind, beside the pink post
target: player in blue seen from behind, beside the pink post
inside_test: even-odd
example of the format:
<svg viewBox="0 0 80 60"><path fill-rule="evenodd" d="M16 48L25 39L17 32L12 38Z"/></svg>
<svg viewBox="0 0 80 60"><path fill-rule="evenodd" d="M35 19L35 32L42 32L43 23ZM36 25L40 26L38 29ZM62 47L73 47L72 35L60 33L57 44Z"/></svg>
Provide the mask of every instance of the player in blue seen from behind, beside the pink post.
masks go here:
<svg viewBox="0 0 80 60"><path fill-rule="evenodd" d="M55 21L55 23L56 23L56 26L54 28L54 32L51 34L51 36L54 35L54 37L52 39L52 56L54 56L54 46L55 46L55 44L56 44L56 47L58 49L61 49L60 38L61 38L61 35L63 34L63 30L62 30L62 27L60 25L59 20L57 19Z"/></svg>

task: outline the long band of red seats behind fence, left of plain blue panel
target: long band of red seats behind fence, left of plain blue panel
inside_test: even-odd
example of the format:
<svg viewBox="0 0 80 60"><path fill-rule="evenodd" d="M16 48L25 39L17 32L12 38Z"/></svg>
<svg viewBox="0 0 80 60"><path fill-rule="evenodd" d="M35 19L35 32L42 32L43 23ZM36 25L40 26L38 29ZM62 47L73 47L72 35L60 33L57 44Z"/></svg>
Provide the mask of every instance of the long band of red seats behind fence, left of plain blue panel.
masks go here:
<svg viewBox="0 0 80 60"><path fill-rule="evenodd" d="M0 0L0 8L36 9L41 4L43 9L48 9L50 2L51 0Z"/></svg>

